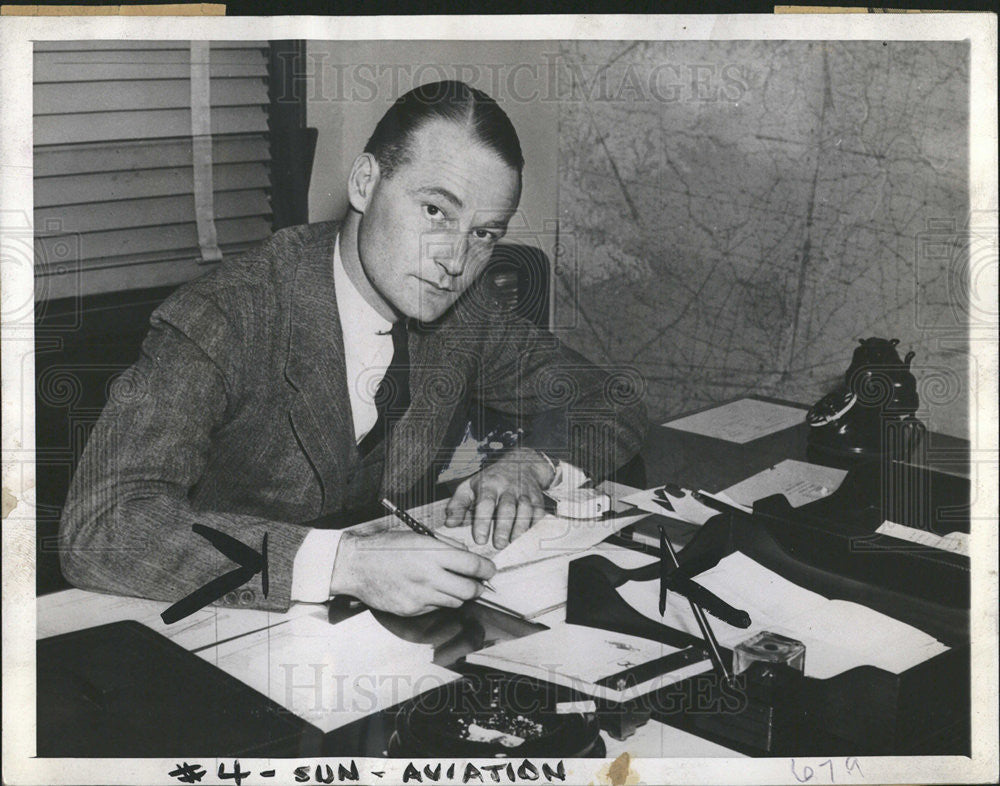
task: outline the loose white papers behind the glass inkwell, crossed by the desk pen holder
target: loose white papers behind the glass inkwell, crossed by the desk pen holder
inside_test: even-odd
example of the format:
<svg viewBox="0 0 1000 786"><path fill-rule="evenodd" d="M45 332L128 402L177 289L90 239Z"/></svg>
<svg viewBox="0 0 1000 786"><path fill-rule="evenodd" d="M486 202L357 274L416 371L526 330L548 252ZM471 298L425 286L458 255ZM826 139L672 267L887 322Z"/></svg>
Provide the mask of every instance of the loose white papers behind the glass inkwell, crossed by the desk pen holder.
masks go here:
<svg viewBox="0 0 1000 786"><path fill-rule="evenodd" d="M829 600L782 578L745 554L735 552L695 580L752 620L736 628L712 617L712 630L724 647L734 647L769 630L806 645L805 673L826 679L857 666L871 665L900 674L948 648L917 628L858 603ZM629 582L618 593L636 611L672 628L701 636L687 600L667 595L660 617L656 582Z"/></svg>

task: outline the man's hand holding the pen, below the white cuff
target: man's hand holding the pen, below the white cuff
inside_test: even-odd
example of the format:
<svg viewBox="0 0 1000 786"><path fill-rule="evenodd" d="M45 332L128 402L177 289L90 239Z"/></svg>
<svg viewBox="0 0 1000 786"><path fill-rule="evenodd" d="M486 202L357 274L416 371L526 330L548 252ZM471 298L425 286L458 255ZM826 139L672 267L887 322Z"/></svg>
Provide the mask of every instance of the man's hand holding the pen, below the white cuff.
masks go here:
<svg viewBox="0 0 1000 786"><path fill-rule="evenodd" d="M471 551L415 532L345 532L330 580L331 595L353 595L367 606L413 616L461 606L483 592L496 566Z"/></svg>

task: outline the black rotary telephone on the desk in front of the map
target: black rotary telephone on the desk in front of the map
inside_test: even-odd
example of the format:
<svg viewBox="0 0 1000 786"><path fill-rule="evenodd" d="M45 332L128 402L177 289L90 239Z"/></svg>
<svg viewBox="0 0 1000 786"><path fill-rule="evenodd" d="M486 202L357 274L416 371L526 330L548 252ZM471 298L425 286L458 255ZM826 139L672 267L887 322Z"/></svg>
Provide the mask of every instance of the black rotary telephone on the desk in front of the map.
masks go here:
<svg viewBox="0 0 1000 786"><path fill-rule="evenodd" d="M914 352L902 360L898 338L862 338L844 382L806 415L808 453L817 460L853 463L892 455L905 460L922 437L914 413L920 404L910 373Z"/></svg>

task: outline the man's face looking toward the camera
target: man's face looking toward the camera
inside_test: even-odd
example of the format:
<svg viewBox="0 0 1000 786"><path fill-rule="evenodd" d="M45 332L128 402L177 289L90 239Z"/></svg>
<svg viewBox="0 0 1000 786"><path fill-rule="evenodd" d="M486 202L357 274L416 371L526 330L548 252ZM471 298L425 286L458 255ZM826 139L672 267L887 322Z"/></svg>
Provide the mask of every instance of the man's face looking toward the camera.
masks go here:
<svg viewBox="0 0 1000 786"><path fill-rule="evenodd" d="M517 207L520 177L446 120L413 134L409 159L374 185L358 253L384 301L431 322L482 272Z"/></svg>

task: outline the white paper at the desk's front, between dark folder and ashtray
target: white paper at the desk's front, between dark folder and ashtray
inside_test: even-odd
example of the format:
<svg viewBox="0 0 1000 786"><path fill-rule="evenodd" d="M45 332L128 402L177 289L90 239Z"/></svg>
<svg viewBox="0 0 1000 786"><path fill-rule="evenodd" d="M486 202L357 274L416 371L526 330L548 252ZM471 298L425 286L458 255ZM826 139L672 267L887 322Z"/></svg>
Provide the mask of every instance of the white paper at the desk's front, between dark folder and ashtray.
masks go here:
<svg viewBox="0 0 1000 786"><path fill-rule="evenodd" d="M459 678L370 611L336 625L300 617L199 654L324 732Z"/></svg>

